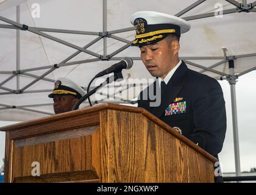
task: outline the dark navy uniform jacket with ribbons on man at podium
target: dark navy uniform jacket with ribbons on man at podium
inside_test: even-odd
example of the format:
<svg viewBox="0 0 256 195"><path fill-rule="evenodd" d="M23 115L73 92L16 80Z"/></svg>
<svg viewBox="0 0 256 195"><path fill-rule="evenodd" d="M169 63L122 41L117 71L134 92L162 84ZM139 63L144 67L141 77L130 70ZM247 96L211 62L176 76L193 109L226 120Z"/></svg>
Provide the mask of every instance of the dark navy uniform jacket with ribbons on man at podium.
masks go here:
<svg viewBox="0 0 256 195"><path fill-rule="evenodd" d="M159 87L158 81L152 86ZM145 108L171 127L179 127L182 135L218 158L226 135L225 101L218 81L188 69L182 62L161 94L160 106L151 107L150 102L155 100L143 97L141 91L138 107ZM168 107L175 103L183 107L170 114Z"/></svg>

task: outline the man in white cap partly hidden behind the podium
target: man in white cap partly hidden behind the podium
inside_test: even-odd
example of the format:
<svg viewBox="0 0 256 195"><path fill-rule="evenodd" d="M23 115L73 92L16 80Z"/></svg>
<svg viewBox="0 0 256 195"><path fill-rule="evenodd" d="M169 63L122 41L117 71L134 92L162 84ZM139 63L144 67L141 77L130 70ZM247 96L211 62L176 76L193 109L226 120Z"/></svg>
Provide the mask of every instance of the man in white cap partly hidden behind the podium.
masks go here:
<svg viewBox="0 0 256 195"><path fill-rule="evenodd" d="M54 90L48 97L53 98L55 114L60 114L71 111L84 95L85 91L77 83L61 77L54 83Z"/></svg>

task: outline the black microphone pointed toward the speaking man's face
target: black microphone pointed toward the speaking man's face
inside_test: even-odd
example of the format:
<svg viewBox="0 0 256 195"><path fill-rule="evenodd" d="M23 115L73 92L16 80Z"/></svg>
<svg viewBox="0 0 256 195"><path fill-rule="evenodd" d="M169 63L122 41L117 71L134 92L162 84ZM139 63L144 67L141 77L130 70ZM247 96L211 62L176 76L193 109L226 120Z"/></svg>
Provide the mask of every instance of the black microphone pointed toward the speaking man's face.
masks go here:
<svg viewBox="0 0 256 195"><path fill-rule="evenodd" d="M124 57L123 60L121 60L118 63L115 63L115 65L110 66L107 69L104 69L104 71L101 71L101 73L96 74L96 78L98 77L102 77L105 74L109 74L109 73L118 73L120 72L122 69L130 69L132 68L133 65L133 61L132 59L130 59L129 57Z"/></svg>

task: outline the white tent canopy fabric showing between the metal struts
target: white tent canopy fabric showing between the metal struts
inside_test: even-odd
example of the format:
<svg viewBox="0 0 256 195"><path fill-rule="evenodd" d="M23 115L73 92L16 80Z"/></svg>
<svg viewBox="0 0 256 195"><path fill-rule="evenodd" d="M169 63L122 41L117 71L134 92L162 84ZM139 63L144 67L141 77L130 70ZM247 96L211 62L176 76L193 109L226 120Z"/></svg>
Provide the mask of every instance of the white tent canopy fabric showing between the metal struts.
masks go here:
<svg viewBox="0 0 256 195"><path fill-rule="evenodd" d="M8 1L7 1L8 2ZM12 1L16 5L20 1ZM132 27L130 24L130 16L132 13L140 10L154 10L165 12L172 15L180 12L188 7L188 5L196 2L195 0L189 1L144 1L144 0L130 0L130 1L107 1L107 30L118 30ZM241 1L239 1L241 2ZM253 2L253 1L248 1ZM40 4L40 18L32 18L32 5L34 3ZM198 7L190 10L182 15L193 16L202 13L215 12L215 5L221 3L223 9L233 9L234 5L229 4L227 1L213 0L205 1ZM3 9L4 4L0 5L0 10ZM11 7L12 4L5 7L5 10L0 12L0 16L16 21L16 7ZM66 30L84 30L86 32L102 32L103 13L102 13L102 0L29 0L20 5L20 23L26 24L30 27L45 27L53 29L66 29ZM227 55L242 55L256 52L256 37L254 36L254 23L256 13L232 13L224 15L223 18L204 18L191 20L191 30L182 35L180 40L180 57L220 57L216 60L193 60L187 59L189 62L196 63L205 67L212 67L215 63L221 62L224 59L223 47L227 48ZM1 22L1 24L7 24ZM10 24L9 24L10 25ZM51 35L60 40L71 43L80 48L93 41L96 35L76 35L76 34L62 34L54 32L44 32L46 35ZM128 31L123 33L113 34L117 37L124 38L132 41L135 32ZM15 71L16 70L16 30L13 29L0 29L0 71ZM127 43L107 38L107 55L116 52ZM40 37L37 34L28 31L20 31L20 69L36 68L34 71L27 71L27 74L33 74L40 77L52 68L52 65L59 64L70 55L77 52L77 49L70 48L62 43L57 43L45 37ZM91 45L88 51L94 52L98 55L103 55L103 39L99 40L96 44ZM3 51L3 52L2 52ZM140 57L140 50L138 48L127 48L120 51L113 57ZM80 52L70 62L77 62L80 60L96 59L90 54ZM246 57L235 59L235 73L241 73L249 68L256 66L256 57ZM58 77L68 77L74 80L83 87L87 87L91 78L102 69L107 68L113 63L118 61L103 61L103 62L90 62L90 63L77 63L69 66L61 66L51 73L47 74L45 78L55 80ZM128 74L133 79L152 78L143 63L140 60L133 61L132 69L123 71L124 78ZM63 64L62 64L63 65ZM49 66L48 68L42 68ZM188 65L191 69L202 71L201 68ZM228 62L213 68L216 71L229 74ZM220 75L211 73L210 71L204 72L209 76L219 78ZM0 83L8 79L12 74L0 74ZM20 88L26 87L27 84L35 80L35 77L28 75L20 75ZM94 83L93 83L94 85ZM2 87L2 88L1 88ZM16 90L16 77L13 77L9 82L0 86L0 93L9 93L3 88L10 88ZM6 105L26 105L26 104L51 104L52 100L48 98L49 93L26 93L31 90L51 90L53 82L49 80L40 80L35 82L27 88L23 94L9 94L1 95L1 103ZM138 89L138 88L137 88ZM129 94L132 94L132 88L129 89ZM137 93L134 96L137 96ZM122 97L125 98L126 94ZM133 97L129 97L133 98ZM92 98L93 99L93 98ZM116 99L118 100L118 99ZM87 104L85 104L87 105ZM40 112L52 113L52 106L33 107ZM0 107L1 109L1 107ZM6 110L5 110L6 111ZM8 112L0 110L0 119L15 119L22 121L25 119L36 118L37 116L46 116L43 114L29 115L27 111L9 110ZM5 114L6 113L6 114ZM13 116L12 113L21 113ZM20 117L20 118L19 118Z"/></svg>

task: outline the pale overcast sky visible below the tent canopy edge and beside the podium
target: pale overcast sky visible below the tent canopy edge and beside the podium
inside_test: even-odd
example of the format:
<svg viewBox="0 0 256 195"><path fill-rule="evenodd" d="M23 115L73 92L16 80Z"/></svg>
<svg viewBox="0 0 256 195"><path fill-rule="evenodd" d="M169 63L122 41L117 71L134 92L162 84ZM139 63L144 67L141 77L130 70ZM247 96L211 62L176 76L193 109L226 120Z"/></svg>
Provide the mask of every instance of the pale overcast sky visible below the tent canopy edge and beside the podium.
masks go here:
<svg viewBox="0 0 256 195"><path fill-rule="evenodd" d="M230 101L230 85L224 80L221 83L226 100L227 133L222 152L219 154L222 172L235 172L233 150L232 108ZM239 78L236 83L236 101L238 109L238 131L240 139L241 171L250 171L256 167L256 71ZM0 121L0 126L13 122ZM0 132L0 158L4 158L5 135ZM2 160L0 160L2 166Z"/></svg>

